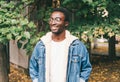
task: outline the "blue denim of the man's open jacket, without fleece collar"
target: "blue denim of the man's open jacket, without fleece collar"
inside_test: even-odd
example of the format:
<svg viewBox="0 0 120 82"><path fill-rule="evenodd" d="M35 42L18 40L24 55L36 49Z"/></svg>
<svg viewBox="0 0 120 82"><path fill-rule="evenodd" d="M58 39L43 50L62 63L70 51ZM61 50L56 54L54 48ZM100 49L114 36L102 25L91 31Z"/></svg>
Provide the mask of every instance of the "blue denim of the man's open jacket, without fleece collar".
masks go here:
<svg viewBox="0 0 120 82"><path fill-rule="evenodd" d="M66 82L88 81L92 70L89 54L82 42L74 40L69 47ZM39 41L30 58L29 73L34 82L45 82L45 45Z"/></svg>

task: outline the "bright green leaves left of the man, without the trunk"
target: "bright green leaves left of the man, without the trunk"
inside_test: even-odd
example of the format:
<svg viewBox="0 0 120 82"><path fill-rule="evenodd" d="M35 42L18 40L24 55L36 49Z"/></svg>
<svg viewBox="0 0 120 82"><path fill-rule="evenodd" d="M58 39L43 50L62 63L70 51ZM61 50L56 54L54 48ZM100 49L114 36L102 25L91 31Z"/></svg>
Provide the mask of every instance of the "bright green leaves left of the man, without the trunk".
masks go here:
<svg viewBox="0 0 120 82"><path fill-rule="evenodd" d="M25 17L25 8L33 1L22 0L21 2L0 1L0 43L6 44L10 40L16 40L19 48L25 48L31 52L37 37L36 26Z"/></svg>

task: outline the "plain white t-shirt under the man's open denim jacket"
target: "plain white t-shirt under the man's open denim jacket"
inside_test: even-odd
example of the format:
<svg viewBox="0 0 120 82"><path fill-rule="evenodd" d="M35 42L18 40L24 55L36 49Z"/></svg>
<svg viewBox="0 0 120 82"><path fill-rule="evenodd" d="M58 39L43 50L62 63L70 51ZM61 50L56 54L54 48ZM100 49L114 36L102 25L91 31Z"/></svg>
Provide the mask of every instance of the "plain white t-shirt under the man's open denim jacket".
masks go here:
<svg viewBox="0 0 120 82"><path fill-rule="evenodd" d="M66 40L51 42L50 82L66 82L68 54L65 54Z"/></svg>

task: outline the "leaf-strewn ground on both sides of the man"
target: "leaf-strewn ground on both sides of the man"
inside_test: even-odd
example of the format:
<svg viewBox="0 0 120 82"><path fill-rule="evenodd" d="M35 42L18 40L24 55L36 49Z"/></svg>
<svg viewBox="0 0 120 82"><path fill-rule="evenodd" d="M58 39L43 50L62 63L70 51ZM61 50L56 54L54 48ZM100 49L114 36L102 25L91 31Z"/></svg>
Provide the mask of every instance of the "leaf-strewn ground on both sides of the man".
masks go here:
<svg viewBox="0 0 120 82"><path fill-rule="evenodd" d="M92 53L95 53L91 55L93 70L89 82L120 82L120 56L110 58L106 53L106 46L100 46L99 44L92 50ZM120 45L117 46L117 54L120 55ZM9 82L32 82L29 74L21 69L16 69L14 65L10 67L9 80Z"/></svg>

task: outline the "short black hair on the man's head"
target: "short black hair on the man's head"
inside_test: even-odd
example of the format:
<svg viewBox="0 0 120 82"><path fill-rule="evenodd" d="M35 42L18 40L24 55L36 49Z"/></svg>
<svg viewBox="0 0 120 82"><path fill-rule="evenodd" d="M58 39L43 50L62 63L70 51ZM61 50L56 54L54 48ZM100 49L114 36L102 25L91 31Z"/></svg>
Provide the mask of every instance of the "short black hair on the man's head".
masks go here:
<svg viewBox="0 0 120 82"><path fill-rule="evenodd" d="M70 12L66 8L62 8L62 7L54 8L52 10L52 13L55 12L55 11L62 12L65 16L65 21L68 21L68 22L70 21L70 18L69 18L70 17Z"/></svg>

